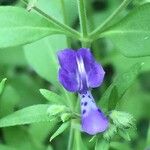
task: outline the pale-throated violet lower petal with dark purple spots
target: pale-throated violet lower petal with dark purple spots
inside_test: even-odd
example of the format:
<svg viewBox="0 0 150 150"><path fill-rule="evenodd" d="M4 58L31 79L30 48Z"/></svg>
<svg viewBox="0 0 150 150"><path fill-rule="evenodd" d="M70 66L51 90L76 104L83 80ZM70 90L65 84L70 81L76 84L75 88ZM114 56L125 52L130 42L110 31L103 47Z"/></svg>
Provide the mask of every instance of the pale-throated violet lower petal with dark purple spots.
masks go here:
<svg viewBox="0 0 150 150"><path fill-rule="evenodd" d="M103 132L108 127L108 119L98 109L90 91L80 94L82 130L90 135Z"/></svg>

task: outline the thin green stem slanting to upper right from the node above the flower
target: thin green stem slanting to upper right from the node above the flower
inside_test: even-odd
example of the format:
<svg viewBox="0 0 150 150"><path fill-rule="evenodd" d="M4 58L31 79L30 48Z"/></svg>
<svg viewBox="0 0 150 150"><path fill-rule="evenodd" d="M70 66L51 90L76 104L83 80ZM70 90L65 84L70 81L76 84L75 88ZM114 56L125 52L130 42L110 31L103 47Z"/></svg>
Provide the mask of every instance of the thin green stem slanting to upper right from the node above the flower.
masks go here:
<svg viewBox="0 0 150 150"><path fill-rule="evenodd" d="M93 32L90 33L91 38L99 34L109 23L130 3L131 0L124 0L119 7Z"/></svg>

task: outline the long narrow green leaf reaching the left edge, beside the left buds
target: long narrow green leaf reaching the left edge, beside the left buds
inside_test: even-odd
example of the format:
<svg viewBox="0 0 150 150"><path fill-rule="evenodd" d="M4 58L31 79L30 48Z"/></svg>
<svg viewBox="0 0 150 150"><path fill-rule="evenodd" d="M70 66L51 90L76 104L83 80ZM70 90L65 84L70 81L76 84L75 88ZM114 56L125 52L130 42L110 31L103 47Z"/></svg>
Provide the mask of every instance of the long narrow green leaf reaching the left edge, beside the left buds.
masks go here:
<svg viewBox="0 0 150 150"><path fill-rule="evenodd" d="M48 107L49 105L47 104L39 104L18 110L0 119L0 127L51 121L47 114Z"/></svg>

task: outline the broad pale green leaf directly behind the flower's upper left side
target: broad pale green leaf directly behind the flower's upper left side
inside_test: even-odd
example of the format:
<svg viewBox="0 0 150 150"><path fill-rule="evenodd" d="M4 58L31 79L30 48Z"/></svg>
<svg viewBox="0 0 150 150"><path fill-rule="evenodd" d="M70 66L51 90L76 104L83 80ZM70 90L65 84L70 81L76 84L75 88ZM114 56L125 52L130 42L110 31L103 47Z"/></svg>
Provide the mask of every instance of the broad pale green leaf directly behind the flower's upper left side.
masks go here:
<svg viewBox="0 0 150 150"><path fill-rule="evenodd" d="M29 65L36 73L58 87L57 51L66 47L66 37L57 35L26 45L24 52Z"/></svg>

